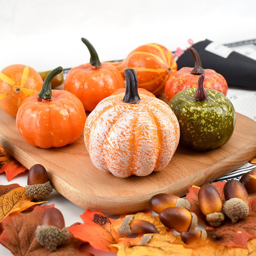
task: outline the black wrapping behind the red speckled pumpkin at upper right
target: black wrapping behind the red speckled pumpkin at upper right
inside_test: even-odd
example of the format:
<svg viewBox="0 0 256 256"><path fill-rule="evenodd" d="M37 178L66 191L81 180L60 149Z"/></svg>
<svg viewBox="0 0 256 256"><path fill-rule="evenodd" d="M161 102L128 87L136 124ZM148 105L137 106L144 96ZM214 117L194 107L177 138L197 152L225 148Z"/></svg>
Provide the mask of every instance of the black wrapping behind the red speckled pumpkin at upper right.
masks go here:
<svg viewBox="0 0 256 256"><path fill-rule="evenodd" d="M206 39L193 45L198 52L203 68L210 68L224 76L228 85L256 90L256 60L238 52L231 52L227 58L220 57L205 50L212 41ZM178 70L194 67L195 61L189 50L177 60Z"/></svg>

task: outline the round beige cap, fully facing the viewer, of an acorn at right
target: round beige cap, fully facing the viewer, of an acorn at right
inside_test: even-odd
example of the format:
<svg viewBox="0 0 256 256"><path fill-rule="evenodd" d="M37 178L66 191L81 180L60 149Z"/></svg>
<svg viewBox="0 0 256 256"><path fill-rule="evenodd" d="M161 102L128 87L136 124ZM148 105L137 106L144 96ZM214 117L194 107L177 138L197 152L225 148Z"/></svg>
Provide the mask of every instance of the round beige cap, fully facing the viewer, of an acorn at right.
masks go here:
<svg viewBox="0 0 256 256"><path fill-rule="evenodd" d="M230 198L223 204L223 211L235 223L238 219L244 219L249 214L249 206L240 198Z"/></svg>

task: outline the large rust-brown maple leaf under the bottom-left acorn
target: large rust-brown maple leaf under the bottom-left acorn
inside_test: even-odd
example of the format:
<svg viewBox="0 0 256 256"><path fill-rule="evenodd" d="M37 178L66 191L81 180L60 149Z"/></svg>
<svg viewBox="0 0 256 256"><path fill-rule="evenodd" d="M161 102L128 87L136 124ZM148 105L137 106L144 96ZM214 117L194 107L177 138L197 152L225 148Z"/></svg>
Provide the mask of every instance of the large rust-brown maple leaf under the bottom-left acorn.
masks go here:
<svg viewBox="0 0 256 256"><path fill-rule="evenodd" d="M80 256L91 255L83 252L82 242L72 234L67 242L52 252L38 243L35 231L41 224L44 212L54 205L36 206L30 214L13 212L2 221L3 233L0 242L16 256Z"/></svg>

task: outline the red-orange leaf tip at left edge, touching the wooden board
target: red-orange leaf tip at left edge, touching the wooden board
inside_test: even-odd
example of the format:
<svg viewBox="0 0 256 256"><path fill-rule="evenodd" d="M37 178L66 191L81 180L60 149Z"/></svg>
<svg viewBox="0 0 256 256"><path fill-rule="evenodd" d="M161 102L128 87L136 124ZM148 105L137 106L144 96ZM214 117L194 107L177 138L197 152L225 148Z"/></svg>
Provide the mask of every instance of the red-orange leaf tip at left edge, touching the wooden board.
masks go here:
<svg viewBox="0 0 256 256"><path fill-rule="evenodd" d="M5 172L8 181L27 170L0 146L0 173Z"/></svg>

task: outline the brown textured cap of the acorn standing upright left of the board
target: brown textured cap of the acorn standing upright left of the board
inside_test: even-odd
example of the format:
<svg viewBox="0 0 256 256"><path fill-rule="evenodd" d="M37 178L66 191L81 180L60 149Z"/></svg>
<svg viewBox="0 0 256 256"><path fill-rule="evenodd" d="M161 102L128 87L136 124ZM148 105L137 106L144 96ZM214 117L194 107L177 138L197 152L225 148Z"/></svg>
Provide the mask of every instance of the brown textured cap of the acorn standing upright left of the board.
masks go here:
<svg viewBox="0 0 256 256"><path fill-rule="evenodd" d="M52 185L50 181L43 184L27 185L25 187L25 195L36 199L37 201L42 200L45 196L49 196L52 192Z"/></svg>

